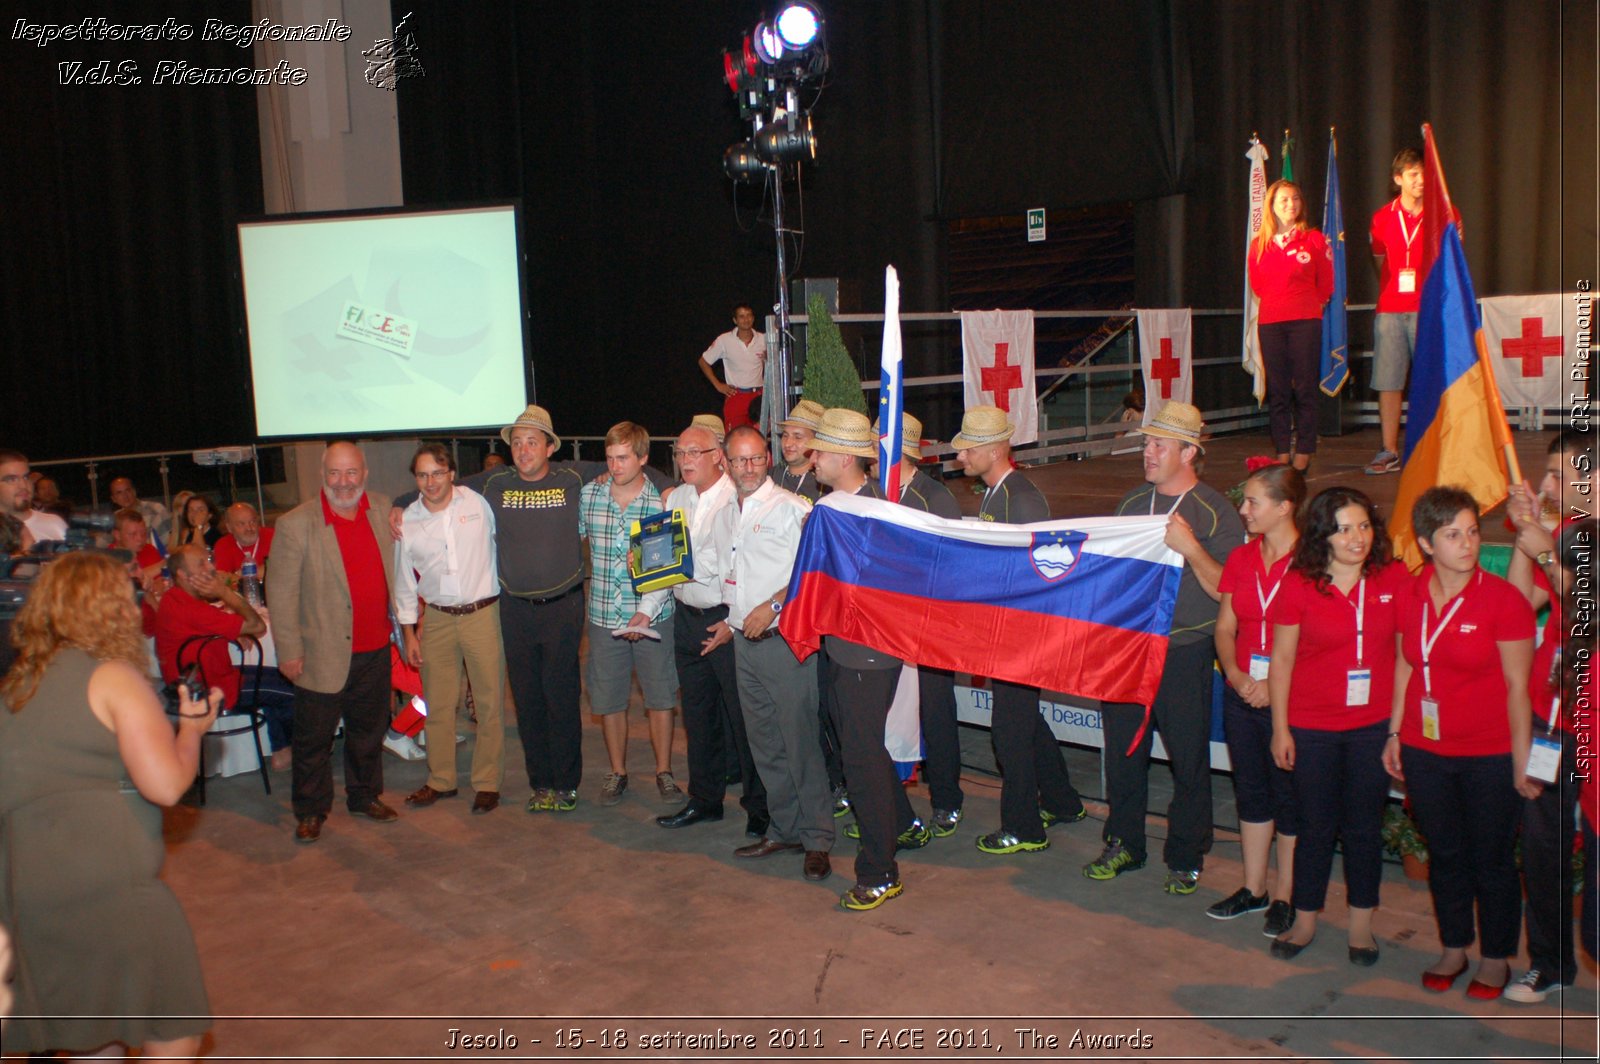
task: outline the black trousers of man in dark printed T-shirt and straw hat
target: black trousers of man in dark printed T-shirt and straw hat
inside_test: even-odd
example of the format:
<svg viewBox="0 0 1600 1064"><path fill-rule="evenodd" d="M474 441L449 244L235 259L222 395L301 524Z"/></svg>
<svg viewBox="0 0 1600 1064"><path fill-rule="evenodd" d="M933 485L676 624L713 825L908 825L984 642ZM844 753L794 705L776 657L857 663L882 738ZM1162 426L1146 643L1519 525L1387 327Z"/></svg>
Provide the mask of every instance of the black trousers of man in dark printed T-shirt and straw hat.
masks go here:
<svg viewBox="0 0 1600 1064"><path fill-rule="evenodd" d="M506 674L517 701L517 738L534 790L576 790L584 774L578 642L584 597L534 603L501 595Z"/></svg>

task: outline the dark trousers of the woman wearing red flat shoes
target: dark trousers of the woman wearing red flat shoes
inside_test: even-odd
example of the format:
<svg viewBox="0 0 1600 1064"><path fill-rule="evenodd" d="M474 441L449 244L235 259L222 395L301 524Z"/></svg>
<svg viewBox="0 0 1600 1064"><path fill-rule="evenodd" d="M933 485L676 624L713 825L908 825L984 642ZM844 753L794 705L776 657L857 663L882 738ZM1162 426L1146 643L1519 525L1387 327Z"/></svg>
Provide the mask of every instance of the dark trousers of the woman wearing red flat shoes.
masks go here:
<svg viewBox="0 0 1600 1064"><path fill-rule="evenodd" d="M1522 797L1512 787L1510 754L1445 757L1408 746L1400 763L1416 826L1427 837L1427 890L1440 944L1472 946L1475 909L1478 952L1486 960L1515 957L1522 934L1515 858ZM1571 898L1566 909L1571 912Z"/></svg>

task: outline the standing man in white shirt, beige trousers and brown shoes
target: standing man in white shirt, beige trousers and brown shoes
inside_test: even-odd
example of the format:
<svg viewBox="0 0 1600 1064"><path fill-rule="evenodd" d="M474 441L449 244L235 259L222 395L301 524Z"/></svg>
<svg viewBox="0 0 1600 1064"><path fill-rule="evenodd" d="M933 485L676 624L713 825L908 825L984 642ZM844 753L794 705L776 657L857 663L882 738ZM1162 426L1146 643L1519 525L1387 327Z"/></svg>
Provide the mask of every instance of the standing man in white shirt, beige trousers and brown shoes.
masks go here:
<svg viewBox="0 0 1600 1064"><path fill-rule="evenodd" d="M422 669L427 782L406 795L406 805L427 806L456 795L456 704L464 661L478 715L472 811L490 813L499 805L506 774L501 720L506 654L494 578L494 510L482 494L456 485L456 459L442 443L418 448L411 475L421 496L402 517L394 597L406 658ZM421 637L418 597L427 603Z"/></svg>

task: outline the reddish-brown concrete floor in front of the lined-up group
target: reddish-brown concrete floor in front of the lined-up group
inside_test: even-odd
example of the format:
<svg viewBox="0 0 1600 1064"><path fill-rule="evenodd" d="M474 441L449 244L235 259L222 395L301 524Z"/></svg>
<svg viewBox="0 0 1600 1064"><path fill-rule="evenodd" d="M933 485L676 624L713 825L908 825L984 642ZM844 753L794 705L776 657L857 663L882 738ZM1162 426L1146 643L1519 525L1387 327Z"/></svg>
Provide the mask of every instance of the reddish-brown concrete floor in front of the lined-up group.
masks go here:
<svg viewBox="0 0 1600 1064"><path fill-rule="evenodd" d="M1222 450L1213 451L1218 486L1237 480L1219 475L1232 464ZM1318 483L1339 470L1336 448L1328 453ZM1370 454L1352 448L1349 464ZM1048 475L1070 488L1053 488L1053 504L1070 512L1064 498L1094 499L1104 512L1104 498L1138 480L1134 461L1056 467ZM1363 478L1374 488L1395 480ZM181 806L166 819L166 880L194 925L218 1016L210 1058L1595 1054L1592 970L1539 1006L1469 1002L1464 982L1443 995L1422 990L1418 973L1437 957L1437 931L1427 890L1398 866L1384 870L1376 917L1384 952L1370 970L1346 960L1339 882L1318 941L1293 962L1267 954L1259 917L1206 918L1205 907L1242 882L1227 776L1214 778L1221 827L1200 890L1171 898L1160 891L1158 861L1110 883L1080 875L1101 845L1106 810L1094 800L1090 819L1058 827L1045 853L981 854L973 838L998 824L998 779L987 733L963 728L960 832L901 856L901 898L850 914L835 901L851 883L853 842L838 838L834 877L818 885L802 880L792 856L734 859L747 840L733 802L720 824L661 830L651 818L667 806L654 798L637 706L630 739L634 790L600 808L605 755L589 722L582 802L568 814L523 813L528 786L514 734L506 803L488 816L469 814L466 789L429 810L403 810L426 766L386 755L386 797L402 808L400 821L355 819L336 803L312 846L291 838L286 774L274 776L272 795L253 774L213 779L203 810ZM1085 797L1101 794L1098 760L1069 747ZM674 765L685 782L682 730ZM1157 766L1152 808L1165 808L1168 794ZM926 813L923 787L912 805ZM1157 854L1163 834L1152 818ZM1517 970L1525 965L1518 958ZM490 1042L453 1050L461 1035L451 1029ZM718 1029L725 1038L754 1035L755 1048L694 1042ZM874 1032L866 1043L862 1029ZM1024 1035L1024 1048L1016 1029L1037 1029L1038 1038ZM616 1048L618 1030L626 1048ZM942 1048L939 1032L949 1030L962 1038ZM1131 1046L1072 1042L1136 1030ZM968 1032L976 1048L962 1045ZM648 1038L659 1042L642 1045ZM893 1051L883 1038L906 1046L920 1038L922 1048Z"/></svg>

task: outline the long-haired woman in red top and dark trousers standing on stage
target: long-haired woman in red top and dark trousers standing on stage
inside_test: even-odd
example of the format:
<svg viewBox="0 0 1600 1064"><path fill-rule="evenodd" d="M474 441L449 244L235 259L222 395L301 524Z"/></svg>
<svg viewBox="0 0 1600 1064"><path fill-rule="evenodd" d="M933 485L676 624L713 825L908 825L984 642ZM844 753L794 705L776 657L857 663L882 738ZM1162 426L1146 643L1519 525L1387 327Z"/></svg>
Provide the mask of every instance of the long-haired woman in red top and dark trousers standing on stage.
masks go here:
<svg viewBox="0 0 1600 1064"><path fill-rule="evenodd" d="M1267 371L1267 414L1278 461L1310 466L1317 453L1322 307L1333 294L1333 251L1306 224L1306 202L1293 181L1274 181L1261 229L1250 242L1250 288L1261 299L1261 360Z"/></svg>

